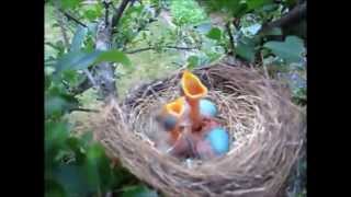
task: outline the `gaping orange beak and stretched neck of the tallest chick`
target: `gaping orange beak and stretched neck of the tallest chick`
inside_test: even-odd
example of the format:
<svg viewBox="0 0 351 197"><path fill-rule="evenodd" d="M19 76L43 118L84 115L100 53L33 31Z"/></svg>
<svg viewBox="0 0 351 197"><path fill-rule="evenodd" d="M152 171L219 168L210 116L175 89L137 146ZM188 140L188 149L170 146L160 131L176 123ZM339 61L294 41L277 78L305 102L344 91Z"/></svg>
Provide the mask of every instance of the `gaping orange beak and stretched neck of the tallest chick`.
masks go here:
<svg viewBox="0 0 351 197"><path fill-rule="evenodd" d="M192 120L192 128L193 130L199 130L201 126L201 115L199 106L200 100L207 94L208 90L204 84L202 84L202 82L195 74L191 73L188 70L183 72L181 85L185 94L185 99L190 105L190 118Z"/></svg>

